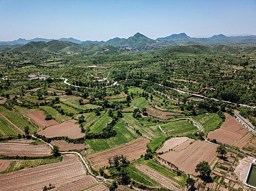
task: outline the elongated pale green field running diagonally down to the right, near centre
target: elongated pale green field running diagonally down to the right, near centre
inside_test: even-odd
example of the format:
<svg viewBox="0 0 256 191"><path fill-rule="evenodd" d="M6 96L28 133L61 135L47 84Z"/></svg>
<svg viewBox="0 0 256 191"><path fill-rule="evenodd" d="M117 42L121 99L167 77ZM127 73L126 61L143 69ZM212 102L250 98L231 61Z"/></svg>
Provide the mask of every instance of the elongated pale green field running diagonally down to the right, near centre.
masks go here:
<svg viewBox="0 0 256 191"><path fill-rule="evenodd" d="M133 117L133 114L123 113L123 118L130 126L135 129L138 129L143 136L149 139L158 138L159 136L164 135L163 132L158 128L158 126L141 126L141 124Z"/></svg>

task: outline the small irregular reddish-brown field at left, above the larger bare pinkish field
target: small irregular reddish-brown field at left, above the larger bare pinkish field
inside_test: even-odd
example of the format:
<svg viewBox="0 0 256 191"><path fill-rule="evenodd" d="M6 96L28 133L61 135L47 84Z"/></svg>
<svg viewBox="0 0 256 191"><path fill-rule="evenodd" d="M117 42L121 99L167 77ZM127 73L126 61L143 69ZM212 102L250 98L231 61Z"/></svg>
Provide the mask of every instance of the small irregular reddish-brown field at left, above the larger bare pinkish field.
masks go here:
<svg viewBox="0 0 256 191"><path fill-rule="evenodd" d="M44 120L45 116L43 115L44 111L36 111L30 114L25 114L24 116L29 118L33 123L39 126L39 130L42 130L45 127L53 126L54 124L58 124L58 122L54 120Z"/></svg>

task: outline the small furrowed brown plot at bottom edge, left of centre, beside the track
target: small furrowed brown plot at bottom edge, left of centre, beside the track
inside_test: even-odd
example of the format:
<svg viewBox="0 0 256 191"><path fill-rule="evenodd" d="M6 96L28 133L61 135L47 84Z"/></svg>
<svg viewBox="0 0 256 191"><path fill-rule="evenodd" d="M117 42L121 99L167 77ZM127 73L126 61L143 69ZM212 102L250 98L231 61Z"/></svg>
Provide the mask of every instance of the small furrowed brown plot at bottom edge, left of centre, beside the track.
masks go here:
<svg viewBox="0 0 256 191"><path fill-rule="evenodd" d="M71 182L69 184L65 184L63 186L60 186L58 188L52 189L52 191L79 191L86 189L90 186L93 186L94 184L98 183L93 176L86 176L76 182Z"/></svg>

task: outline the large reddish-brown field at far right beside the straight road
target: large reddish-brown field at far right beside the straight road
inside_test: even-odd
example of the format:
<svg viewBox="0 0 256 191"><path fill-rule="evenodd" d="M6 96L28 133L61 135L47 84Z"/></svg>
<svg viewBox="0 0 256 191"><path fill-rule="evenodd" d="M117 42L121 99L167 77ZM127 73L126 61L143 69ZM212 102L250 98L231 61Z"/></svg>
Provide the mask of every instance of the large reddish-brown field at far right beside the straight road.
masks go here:
<svg viewBox="0 0 256 191"><path fill-rule="evenodd" d="M227 145L234 145L242 148L247 144L249 139L252 138L251 134L248 134L246 128L241 123L235 120L231 115L224 113L226 120L223 125L213 132L208 133L208 138L216 139L218 142L222 142ZM246 136L243 138L243 136ZM242 139L243 138L243 139ZM241 139L241 141L239 141Z"/></svg>

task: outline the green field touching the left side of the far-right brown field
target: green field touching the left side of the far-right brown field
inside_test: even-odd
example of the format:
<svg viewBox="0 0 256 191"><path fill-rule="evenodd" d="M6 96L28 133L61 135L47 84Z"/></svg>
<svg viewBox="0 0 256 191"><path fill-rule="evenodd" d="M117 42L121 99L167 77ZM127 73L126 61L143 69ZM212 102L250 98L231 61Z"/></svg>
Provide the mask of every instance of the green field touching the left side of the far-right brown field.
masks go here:
<svg viewBox="0 0 256 191"><path fill-rule="evenodd" d="M218 124L222 122L219 115L214 113L192 116L192 118L203 126L204 133L217 129Z"/></svg>

